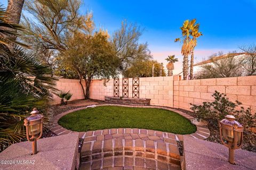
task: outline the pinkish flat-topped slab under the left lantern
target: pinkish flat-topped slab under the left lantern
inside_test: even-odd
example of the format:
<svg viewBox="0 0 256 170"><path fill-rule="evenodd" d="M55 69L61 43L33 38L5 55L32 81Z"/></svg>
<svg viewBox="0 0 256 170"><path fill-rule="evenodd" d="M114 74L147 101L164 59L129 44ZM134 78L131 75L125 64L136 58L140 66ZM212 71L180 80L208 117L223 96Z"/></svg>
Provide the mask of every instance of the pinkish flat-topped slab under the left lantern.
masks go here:
<svg viewBox="0 0 256 170"><path fill-rule="evenodd" d="M0 159L15 162L27 160L30 164L1 164L0 169L75 169L78 133L39 139L37 151L37 154L31 155L31 142L15 143L0 153Z"/></svg>

